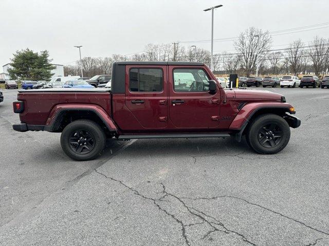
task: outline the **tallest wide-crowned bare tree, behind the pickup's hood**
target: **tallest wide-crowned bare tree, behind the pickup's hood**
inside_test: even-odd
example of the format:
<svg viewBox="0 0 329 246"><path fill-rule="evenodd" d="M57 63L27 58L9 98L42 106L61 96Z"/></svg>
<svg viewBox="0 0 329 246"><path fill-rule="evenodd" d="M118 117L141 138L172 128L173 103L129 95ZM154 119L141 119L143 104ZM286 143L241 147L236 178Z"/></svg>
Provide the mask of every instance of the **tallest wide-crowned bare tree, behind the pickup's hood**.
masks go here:
<svg viewBox="0 0 329 246"><path fill-rule="evenodd" d="M265 55L271 47L271 36L268 31L250 27L240 33L239 38L234 43L236 51L241 53L241 68L246 76L255 69L257 59Z"/></svg>

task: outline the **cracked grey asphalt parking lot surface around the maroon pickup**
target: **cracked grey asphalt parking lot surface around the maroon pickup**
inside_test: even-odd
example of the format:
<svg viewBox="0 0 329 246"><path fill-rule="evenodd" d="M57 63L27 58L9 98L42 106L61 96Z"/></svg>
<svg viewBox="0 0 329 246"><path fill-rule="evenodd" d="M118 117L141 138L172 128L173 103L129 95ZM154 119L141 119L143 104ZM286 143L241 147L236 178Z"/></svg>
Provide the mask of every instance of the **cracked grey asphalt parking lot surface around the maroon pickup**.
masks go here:
<svg viewBox="0 0 329 246"><path fill-rule="evenodd" d="M13 131L16 90L3 90L0 245L329 245L329 89L266 90L302 120L276 155L156 139L86 162L58 133Z"/></svg>

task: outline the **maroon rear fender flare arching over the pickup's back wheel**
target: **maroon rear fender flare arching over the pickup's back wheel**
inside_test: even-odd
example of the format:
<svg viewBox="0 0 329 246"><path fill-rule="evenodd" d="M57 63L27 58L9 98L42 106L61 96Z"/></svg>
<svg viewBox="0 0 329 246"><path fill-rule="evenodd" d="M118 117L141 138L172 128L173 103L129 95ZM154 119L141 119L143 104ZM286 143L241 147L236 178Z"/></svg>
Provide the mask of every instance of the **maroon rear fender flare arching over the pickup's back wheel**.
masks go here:
<svg viewBox="0 0 329 246"><path fill-rule="evenodd" d="M52 108L44 127L44 131L52 132L59 122L61 114L69 111L92 111L103 121L107 129L117 132L118 128L109 114L100 106L94 104L59 104Z"/></svg>

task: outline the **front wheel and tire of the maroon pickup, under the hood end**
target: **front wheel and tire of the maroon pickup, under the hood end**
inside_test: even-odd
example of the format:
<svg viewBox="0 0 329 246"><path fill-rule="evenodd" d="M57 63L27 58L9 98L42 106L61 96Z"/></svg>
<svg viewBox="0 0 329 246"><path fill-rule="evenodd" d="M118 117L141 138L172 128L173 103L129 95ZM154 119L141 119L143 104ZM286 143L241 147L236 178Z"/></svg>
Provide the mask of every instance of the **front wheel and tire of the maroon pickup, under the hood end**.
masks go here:
<svg viewBox="0 0 329 246"><path fill-rule="evenodd" d="M259 154L276 154L290 139L290 128L281 116L263 114L256 117L246 134L249 146Z"/></svg>

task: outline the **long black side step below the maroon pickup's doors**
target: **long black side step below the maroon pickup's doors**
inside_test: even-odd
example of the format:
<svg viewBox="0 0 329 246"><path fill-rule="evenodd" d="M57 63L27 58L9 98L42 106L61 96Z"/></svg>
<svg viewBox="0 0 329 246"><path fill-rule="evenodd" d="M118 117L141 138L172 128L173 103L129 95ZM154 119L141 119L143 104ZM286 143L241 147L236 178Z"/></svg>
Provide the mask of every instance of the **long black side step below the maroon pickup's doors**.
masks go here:
<svg viewBox="0 0 329 246"><path fill-rule="evenodd" d="M149 139L149 138L208 138L208 137L230 137L228 133L208 133L208 134L151 134L151 135L120 135L118 139Z"/></svg>

